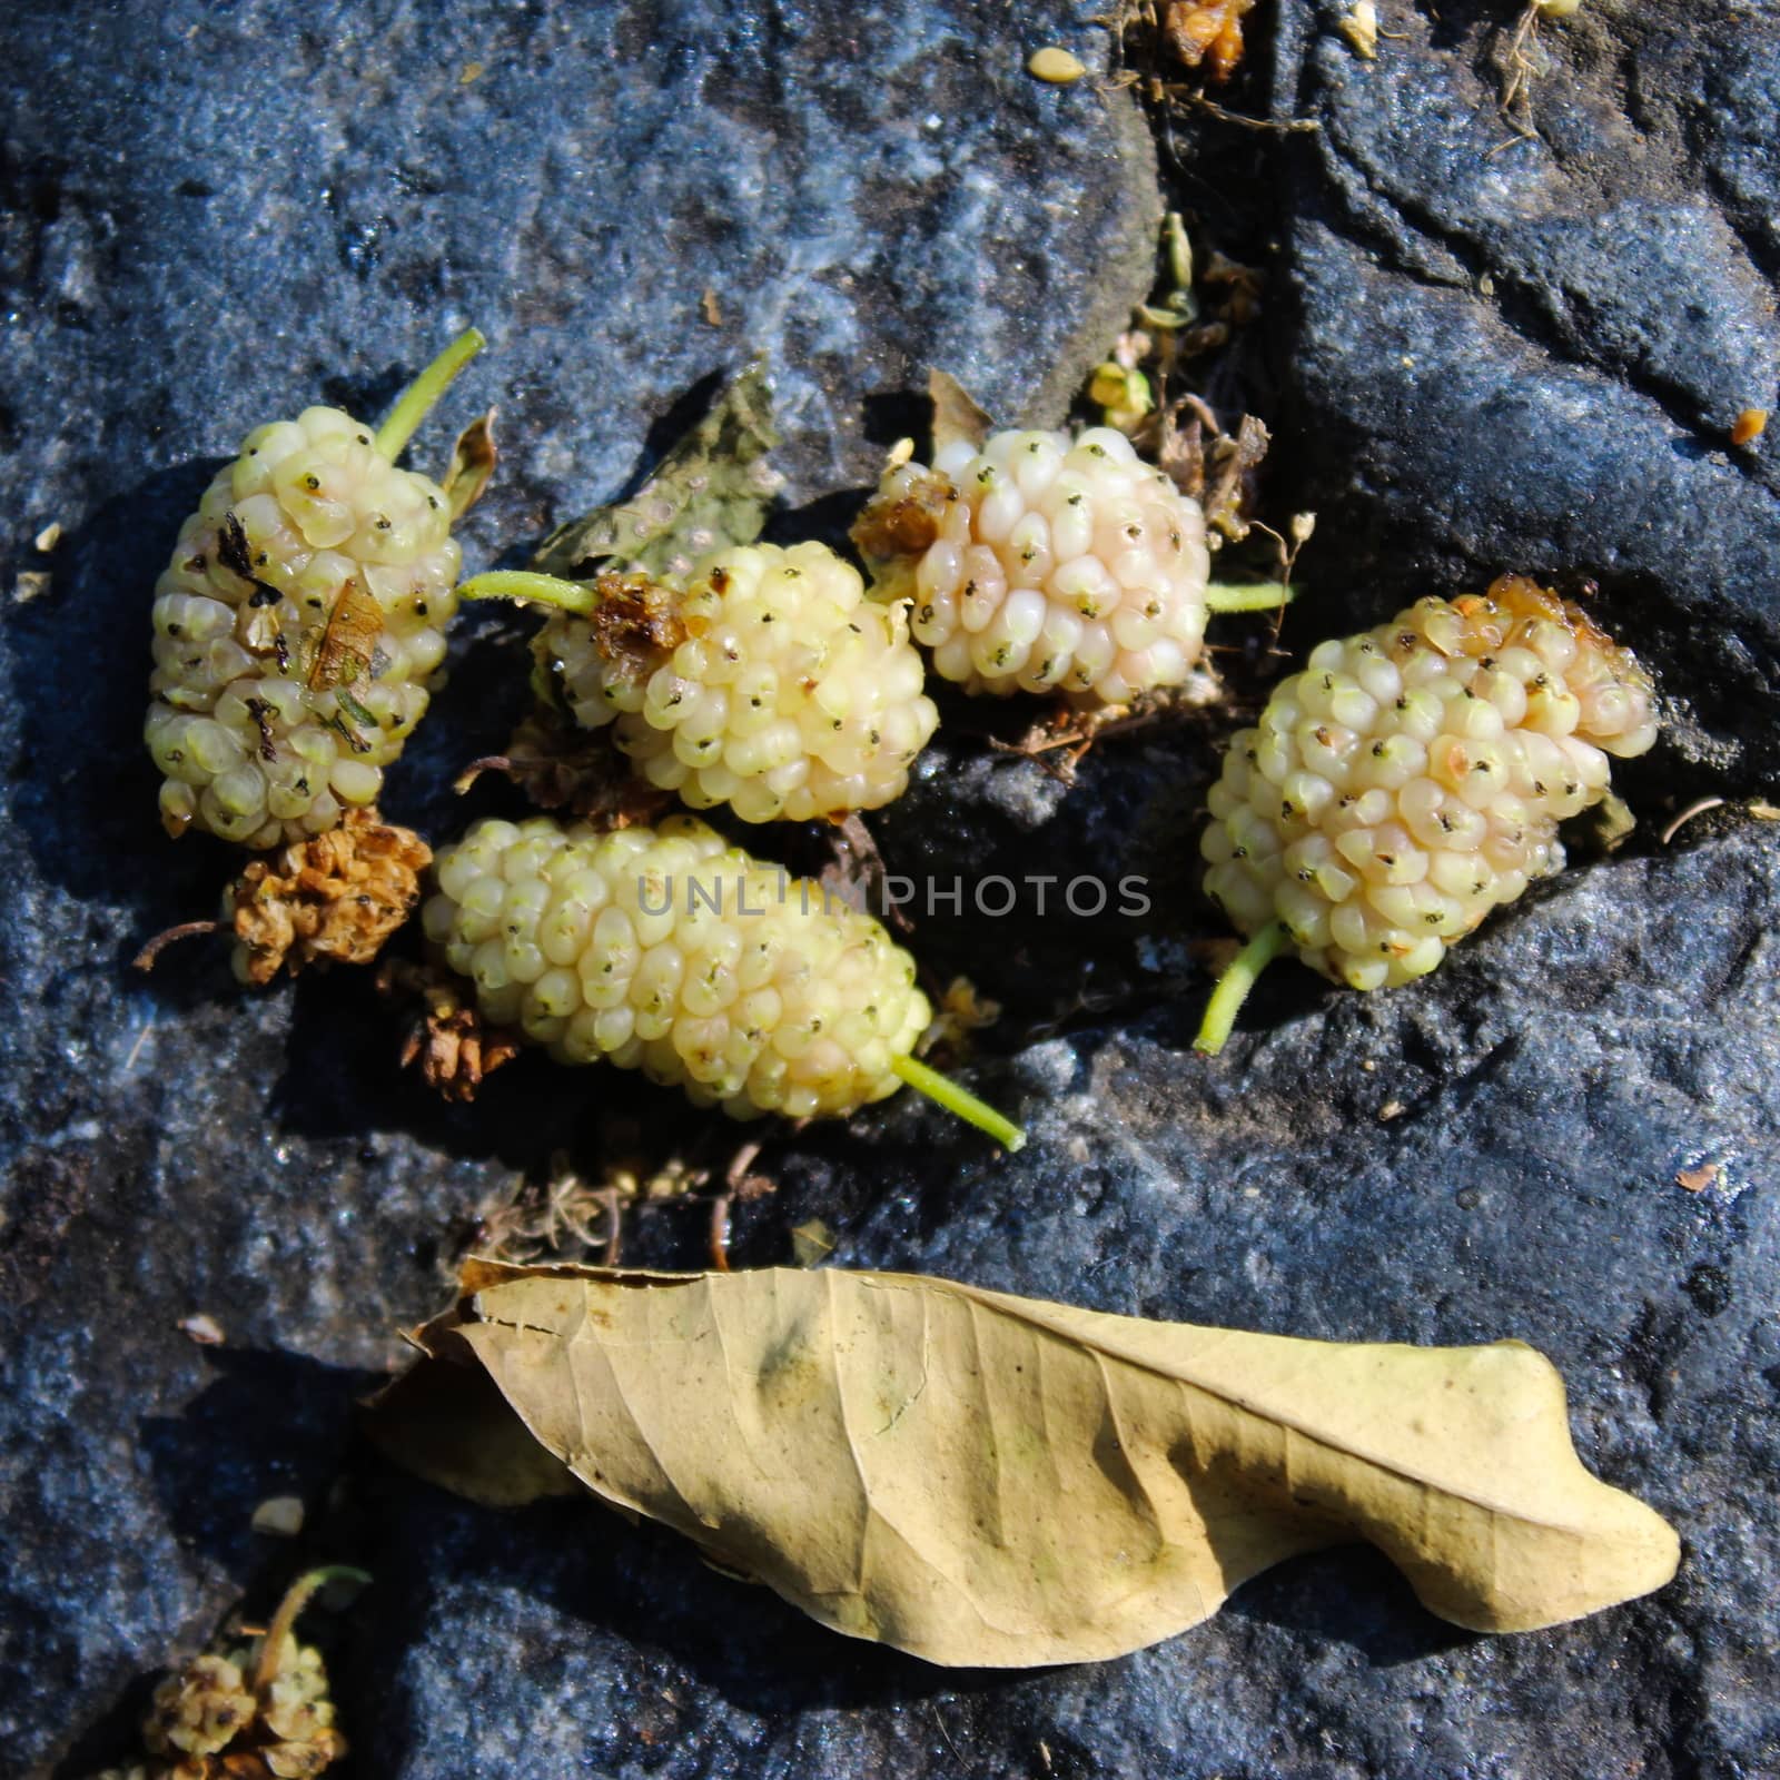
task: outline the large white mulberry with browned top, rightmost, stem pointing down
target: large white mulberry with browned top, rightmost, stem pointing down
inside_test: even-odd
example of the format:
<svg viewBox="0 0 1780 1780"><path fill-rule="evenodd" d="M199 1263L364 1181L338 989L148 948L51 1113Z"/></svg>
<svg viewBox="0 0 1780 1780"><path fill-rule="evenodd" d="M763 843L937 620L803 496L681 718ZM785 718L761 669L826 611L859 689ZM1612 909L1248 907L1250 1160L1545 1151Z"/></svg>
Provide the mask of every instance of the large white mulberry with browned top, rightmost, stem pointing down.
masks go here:
<svg viewBox="0 0 1780 1780"><path fill-rule="evenodd" d="M1655 740L1648 673L1520 575L1323 643L1242 730L1210 792L1207 892L1251 936L1200 1036L1292 947L1372 990L1424 975L1563 867L1558 824Z"/></svg>

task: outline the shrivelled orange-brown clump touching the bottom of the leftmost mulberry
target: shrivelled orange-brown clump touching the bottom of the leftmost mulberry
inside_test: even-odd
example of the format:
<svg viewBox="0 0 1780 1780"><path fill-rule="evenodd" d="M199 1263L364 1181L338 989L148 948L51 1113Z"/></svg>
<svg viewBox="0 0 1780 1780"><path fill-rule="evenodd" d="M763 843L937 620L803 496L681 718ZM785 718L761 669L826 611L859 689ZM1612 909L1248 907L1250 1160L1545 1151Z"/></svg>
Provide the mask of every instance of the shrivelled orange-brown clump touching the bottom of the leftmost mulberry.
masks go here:
<svg viewBox="0 0 1780 1780"><path fill-rule="evenodd" d="M255 860L228 892L235 970L271 983L320 958L368 965L420 901L433 849L376 810L347 810L326 835Z"/></svg>

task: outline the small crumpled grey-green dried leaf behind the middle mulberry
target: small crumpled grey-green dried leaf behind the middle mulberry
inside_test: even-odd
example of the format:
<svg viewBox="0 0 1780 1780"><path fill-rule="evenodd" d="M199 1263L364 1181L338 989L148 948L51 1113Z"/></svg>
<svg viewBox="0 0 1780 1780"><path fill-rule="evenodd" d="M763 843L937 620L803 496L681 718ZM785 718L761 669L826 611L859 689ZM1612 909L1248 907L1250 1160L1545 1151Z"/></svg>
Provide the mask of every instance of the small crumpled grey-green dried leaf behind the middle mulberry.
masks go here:
<svg viewBox="0 0 1780 1780"><path fill-rule="evenodd" d="M712 550L749 545L781 482L767 463L774 445L773 386L756 360L630 500L559 525L532 566L568 580L614 564L684 575Z"/></svg>

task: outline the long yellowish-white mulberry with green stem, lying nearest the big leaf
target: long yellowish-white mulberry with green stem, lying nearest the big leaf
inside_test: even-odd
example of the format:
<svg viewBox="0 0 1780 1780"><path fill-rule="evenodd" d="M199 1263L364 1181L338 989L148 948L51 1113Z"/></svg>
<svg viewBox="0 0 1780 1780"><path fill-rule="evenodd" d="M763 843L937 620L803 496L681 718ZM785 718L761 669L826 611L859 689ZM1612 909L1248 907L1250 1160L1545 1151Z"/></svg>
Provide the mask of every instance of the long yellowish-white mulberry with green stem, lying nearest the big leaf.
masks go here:
<svg viewBox="0 0 1780 1780"><path fill-rule="evenodd" d="M933 1091L910 1056L931 1016L913 958L696 817L603 835L484 821L436 870L427 938L488 1022L562 1063L641 1068L735 1118L844 1114L902 1080ZM984 1120L945 1104L1018 1139L975 1102Z"/></svg>

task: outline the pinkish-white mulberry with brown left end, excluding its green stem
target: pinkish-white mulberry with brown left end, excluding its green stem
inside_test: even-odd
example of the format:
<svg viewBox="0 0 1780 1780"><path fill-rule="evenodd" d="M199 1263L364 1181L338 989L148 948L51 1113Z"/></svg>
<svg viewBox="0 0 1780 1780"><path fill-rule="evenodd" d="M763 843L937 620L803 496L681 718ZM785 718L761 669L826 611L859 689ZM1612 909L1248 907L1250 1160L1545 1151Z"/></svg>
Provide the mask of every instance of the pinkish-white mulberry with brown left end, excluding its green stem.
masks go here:
<svg viewBox="0 0 1780 1780"><path fill-rule="evenodd" d="M1112 427L997 433L885 472L854 543L913 603L933 666L972 692L1120 705L1200 659L1205 518Z"/></svg>

